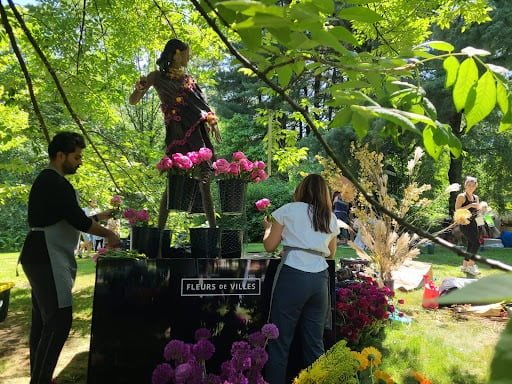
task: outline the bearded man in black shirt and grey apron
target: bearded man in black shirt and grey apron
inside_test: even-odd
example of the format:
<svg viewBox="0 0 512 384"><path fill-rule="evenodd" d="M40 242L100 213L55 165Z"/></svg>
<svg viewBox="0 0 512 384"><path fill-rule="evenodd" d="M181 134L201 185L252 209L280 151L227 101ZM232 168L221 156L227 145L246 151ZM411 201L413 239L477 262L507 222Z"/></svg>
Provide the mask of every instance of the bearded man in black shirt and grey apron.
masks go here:
<svg viewBox="0 0 512 384"><path fill-rule="evenodd" d="M97 223L107 220L112 210L87 217L75 189L64 177L76 173L84 148L84 139L77 133L55 135L48 146L50 164L30 190L30 231L20 262L32 288L31 384L53 382L53 371L71 329L71 289L77 269L74 250L80 232L105 237L110 247L119 246L119 237Z"/></svg>

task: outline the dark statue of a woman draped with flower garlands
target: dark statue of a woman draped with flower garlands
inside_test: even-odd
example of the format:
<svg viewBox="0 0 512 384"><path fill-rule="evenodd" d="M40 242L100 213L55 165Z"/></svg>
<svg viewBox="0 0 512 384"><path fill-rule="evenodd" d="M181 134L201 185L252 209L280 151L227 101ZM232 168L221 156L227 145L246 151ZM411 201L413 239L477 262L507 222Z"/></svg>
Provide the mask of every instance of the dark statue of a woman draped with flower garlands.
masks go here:
<svg viewBox="0 0 512 384"><path fill-rule="evenodd" d="M217 127L218 118L210 108L202 90L195 80L185 74L185 68L190 58L190 49L179 39L171 39L156 61L159 69L147 76L141 76L135 83L135 90L130 95L129 102L135 105L149 88L153 87L161 101L161 109L165 121L165 153L198 151L209 148L212 153L213 144L210 133L220 141ZM214 160L215 155L212 157ZM210 189L211 163L201 163L199 188L202 203L210 227L216 226L215 210ZM167 191L164 192L158 215L158 228L165 227L168 216Z"/></svg>

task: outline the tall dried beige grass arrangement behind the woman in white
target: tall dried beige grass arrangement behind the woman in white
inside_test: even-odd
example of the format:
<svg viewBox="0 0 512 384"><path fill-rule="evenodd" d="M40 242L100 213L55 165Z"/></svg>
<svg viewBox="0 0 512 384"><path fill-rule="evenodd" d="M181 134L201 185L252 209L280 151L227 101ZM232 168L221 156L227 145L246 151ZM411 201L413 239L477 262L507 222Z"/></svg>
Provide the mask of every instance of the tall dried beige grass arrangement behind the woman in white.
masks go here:
<svg viewBox="0 0 512 384"><path fill-rule="evenodd" d="M410 222L414 222L426 212L425 208L435 201L422 196L424 192L431 189L430 185L419 185L414 181L415 168L420 164L424 155L421 148L416 148L413 158L407 163L407 172L411 181L404 188L402 196L394 196L388 191L388 175L384 170L384 155L382 153L370 151L366 145L364 147L352 146L352 154L360 165L360 184L388 211L399 217L408 217ZM330 164L325 159L322 162ZM331 174L332 169L332 165L326 167L325 172ZM350 183L346 178L343 178L342 181L345 184ZM436 199L459 190L459 188L459 184L452 184ZM426 239L418 239L417 235L409 234L404 228L401 228L396 220L374 209L365 196L355 191L354 188L347 186L344 189L340 187L340 190L344 191L344 200L352 197L355 202L353 213L357 217L355 223L359 232L356 239L360 241L357 243L349 241L348 245L356 251L358 257L372 262L381 283L391 281L392 270L406 260L416 257L420 253L419 247L425 243ZM356 193L353 194L353 192Z"/></svg>

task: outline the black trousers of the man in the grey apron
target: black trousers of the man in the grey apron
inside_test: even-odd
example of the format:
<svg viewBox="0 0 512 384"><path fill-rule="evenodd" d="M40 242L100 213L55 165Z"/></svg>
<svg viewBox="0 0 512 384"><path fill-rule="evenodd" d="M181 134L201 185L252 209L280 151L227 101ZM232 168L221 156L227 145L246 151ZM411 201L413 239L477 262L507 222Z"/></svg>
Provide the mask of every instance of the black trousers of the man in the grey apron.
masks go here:
<svg viewBox="0 0 512 384"><path fill-rule="evenodd" d="M23 264L32 288L30 384L49 384L72 322L71 307L59 308L50 264Z"/></svg>

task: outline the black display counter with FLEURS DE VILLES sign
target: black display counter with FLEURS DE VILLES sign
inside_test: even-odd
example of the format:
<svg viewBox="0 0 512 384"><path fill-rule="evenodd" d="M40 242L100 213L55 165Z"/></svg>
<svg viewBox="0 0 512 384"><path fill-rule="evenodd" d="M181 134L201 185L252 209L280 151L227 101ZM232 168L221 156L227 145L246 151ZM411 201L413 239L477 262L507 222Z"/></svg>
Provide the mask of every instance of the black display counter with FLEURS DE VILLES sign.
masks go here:
<svg viewBox="0 0 512 384"><path fill-rule="evenodd" d="M329 260L331 292L334 262ZM104 259L96 269L89 384L151 383L171 339L194 342L212 332L216 352L208 369L230 358L233 341L267 322L277 259ZM332 309L334 311L334 294ZM333 323L335 318L333 316ZM326 348L335 340L326 333ZM300 346L292 347L300 351ZM300 362L292 357L290 375Z"/></svg>

